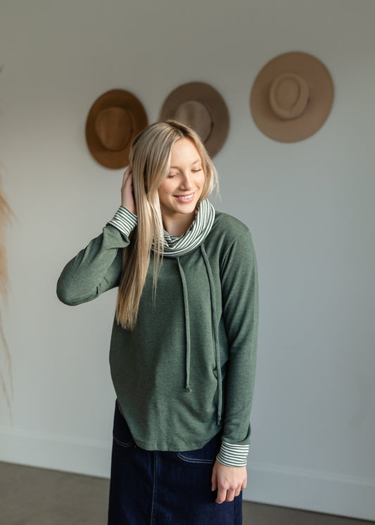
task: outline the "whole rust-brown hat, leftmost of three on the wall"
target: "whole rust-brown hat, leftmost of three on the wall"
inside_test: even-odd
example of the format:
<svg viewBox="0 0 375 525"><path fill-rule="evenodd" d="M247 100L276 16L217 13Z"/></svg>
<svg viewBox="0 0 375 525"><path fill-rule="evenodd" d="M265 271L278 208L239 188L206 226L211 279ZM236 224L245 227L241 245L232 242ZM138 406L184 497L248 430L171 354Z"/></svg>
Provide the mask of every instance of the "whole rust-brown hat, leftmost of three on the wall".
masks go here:
<svg viewBox="0 0 375 525"><path fill-rule="evenodd" d="M91 155L113 170L127 166L132 140L147 124L146 111L136 96L123 89L106 91L87 115L86 140Z"/></svg>

